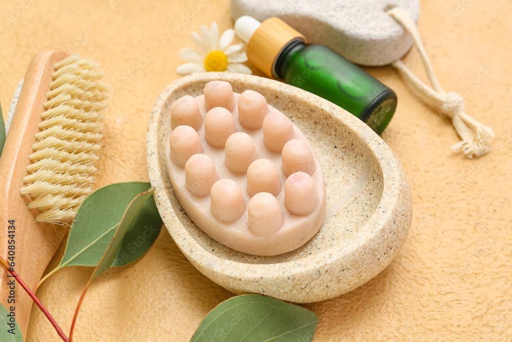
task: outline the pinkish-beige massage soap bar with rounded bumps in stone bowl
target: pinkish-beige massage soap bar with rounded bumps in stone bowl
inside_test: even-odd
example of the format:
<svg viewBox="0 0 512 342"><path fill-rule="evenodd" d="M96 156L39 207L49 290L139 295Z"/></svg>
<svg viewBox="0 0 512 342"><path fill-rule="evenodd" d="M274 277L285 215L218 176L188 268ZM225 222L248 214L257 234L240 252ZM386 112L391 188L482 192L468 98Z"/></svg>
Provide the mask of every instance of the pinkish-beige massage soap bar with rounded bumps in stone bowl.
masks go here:
<svg viewBox="0 0 512 342"><path fill-rule="evenodd" d="M212 81L170 111L170 181L206 234L255 255L292 251L316 234L326 208L322 166L300 129L261 94Z"/></svg>

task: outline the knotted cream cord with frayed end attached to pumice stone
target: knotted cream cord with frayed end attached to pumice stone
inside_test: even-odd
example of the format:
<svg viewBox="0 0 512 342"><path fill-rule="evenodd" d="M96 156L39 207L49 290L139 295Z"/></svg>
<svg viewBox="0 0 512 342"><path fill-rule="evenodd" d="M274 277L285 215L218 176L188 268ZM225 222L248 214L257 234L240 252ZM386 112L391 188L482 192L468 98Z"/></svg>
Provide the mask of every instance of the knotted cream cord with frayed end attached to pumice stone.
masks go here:
<svg viewBox="0 0 512 342"><path fill-rule="evenodd" d="M452 118L453 126L461 138L461 142L452 146L456 152L464 152L468 158L481 156L490 151L490 141L494 138L491 128L477 122L464 112L464 98L455 92L447 93L437 81L432 65L426 55L418 28L409 14L401 8L395 7L387 11L403 28L413 37L414 45L418 49L426 74L429 76L432 88L424 84L400 60L391 65L398 69L407 83L412 86L429 105L440 108L442 114ZM441 115L442 115L441 114Z"/></svg>

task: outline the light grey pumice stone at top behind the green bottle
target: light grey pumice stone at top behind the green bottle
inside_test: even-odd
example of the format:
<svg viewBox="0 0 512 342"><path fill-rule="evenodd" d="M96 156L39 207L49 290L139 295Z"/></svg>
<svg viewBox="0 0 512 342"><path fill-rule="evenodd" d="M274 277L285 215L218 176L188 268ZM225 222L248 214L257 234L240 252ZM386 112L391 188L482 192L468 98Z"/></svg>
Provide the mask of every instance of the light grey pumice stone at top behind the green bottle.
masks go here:
<svg viewBox="0 0 512 342"><path fill-rule="evenodd" d="M236 21L250 15L263 22L279 17L310 44L322 44L356 64L388 65L409 51L413 42L387 10L400 7L415 22L419 0L231 0L231 17Z"/></svg>

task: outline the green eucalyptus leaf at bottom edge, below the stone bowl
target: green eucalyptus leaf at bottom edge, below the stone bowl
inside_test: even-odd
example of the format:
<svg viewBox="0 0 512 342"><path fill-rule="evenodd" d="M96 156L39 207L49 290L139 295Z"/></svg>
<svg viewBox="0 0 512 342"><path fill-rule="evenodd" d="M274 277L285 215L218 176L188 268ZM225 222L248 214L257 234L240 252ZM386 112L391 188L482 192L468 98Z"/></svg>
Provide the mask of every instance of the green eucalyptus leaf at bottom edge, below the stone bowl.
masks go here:
<svg viewBox="0 0 512 342"><path fill-rule="evenodd" d="M300 306L259 294L223 301L211 310L191 342L311 341L318 317Z"/></svg>

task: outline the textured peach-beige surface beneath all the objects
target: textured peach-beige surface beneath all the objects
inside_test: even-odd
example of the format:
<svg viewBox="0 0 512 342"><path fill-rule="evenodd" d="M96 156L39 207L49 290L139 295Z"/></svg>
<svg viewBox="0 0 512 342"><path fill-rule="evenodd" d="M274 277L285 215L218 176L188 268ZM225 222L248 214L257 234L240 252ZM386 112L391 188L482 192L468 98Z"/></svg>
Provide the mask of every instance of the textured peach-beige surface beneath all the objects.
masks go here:
<svg viewBox="0 0 512 342"><path fill-rule="evenodd" d="M37 50L53 46L95 58L116 90L96 186L147 180L146 122L157 95L179 77L179 49L193 47L190 33L201 24L232 27L227 0L205 2L177 32L175 22L199 0L0 1L4 111ZM13 14L16 8L22 14ZM453 154L449 146L458 137L450 122L419 103L392 68L369 70L399 97L382 137L408 173L413 224L398 257L368 284L305 306L320 319L317 341L512 340L512 3L424 0L421 11L419 29L441 84L460 92L467 112L495 129L494 150L475 160ZM408 56L423 77L419 58ZM65 331L91 271L59 271L37 292ZM231 295L194 269L162 230L136 264L94 282L75 337L187 340ZM28 340L58 340L37 309Z"/></svg>

